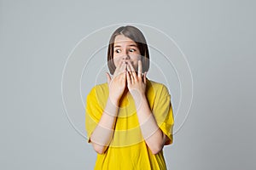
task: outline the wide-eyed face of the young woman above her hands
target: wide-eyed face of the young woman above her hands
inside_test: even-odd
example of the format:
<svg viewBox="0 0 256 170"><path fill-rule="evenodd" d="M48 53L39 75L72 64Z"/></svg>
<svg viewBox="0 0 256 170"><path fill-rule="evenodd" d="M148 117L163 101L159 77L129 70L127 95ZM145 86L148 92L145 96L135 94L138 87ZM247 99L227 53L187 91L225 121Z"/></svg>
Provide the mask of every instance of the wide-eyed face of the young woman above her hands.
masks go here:
<svg viewBox="0 0 256 170"><path fill-rule="evenodd" d="M129 37L118 35L113 43L113 63L115 67L122 61L131 61L131 65L137 71L138 60L141 58L141 53L137 48L137 43Z"/></svg>

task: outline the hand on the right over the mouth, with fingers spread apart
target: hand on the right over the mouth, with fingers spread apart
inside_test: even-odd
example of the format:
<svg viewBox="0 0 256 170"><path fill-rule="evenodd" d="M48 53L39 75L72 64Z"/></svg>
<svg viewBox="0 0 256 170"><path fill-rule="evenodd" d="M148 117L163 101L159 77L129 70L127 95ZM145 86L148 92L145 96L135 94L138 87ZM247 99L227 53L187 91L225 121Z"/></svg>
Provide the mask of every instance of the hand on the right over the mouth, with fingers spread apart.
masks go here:
<svg viewBox="0 0 256 170"><path fill-rule="evenodd" d="M142 61L138 60L138 72L131 65L131 61L127 63L127 87L131 93L133 99L137 102L141 101L146 92L147 72L143 74Z"/></svg>

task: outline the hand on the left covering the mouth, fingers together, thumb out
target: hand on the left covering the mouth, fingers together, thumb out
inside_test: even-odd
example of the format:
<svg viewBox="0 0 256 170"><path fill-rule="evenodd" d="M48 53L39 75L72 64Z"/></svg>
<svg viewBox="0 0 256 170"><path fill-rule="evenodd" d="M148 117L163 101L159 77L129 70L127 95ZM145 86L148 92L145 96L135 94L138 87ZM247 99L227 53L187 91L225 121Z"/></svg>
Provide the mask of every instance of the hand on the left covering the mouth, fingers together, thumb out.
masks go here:
<svg viewBox="0 0 256 170"><path fill-rule="evenodd" d="M126 67L125 61L119 63L118 67L115 69L113 73L113 77L111 78L108 72L106 73L108 79L108 90L111 102L114 105L119 105L119 99L125 91L126 87Z"/></svg>

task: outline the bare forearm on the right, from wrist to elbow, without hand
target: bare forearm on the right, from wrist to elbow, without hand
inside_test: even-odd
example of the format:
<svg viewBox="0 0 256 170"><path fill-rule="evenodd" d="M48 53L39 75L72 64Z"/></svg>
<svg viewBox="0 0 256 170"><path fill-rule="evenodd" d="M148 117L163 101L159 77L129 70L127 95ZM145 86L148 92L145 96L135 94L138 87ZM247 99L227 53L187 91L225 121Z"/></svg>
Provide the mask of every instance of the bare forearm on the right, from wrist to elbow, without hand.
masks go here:
<svg viewBox="0 0 256 170"><path fill-rule="evenodd" d="M154 119L154 115L149 108L146 96L137 99L135 103L137 106L137 117L143 133L143 138L152 153L157 154L162 150L166 142L166 135L158 127L157 122Z"/></svg>

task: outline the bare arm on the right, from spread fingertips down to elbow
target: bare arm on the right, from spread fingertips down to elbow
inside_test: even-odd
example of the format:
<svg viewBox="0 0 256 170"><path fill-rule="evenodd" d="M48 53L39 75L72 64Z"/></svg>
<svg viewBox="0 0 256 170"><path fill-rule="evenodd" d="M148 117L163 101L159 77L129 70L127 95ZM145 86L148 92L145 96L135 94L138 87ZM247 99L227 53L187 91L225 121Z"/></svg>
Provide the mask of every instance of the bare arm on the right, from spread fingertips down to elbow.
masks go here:
<svg viewBox="0 0 256 170"><path fill-rule="evenodd" d="M148 106L148 100L145 95L147 80L146 73L142 76L142 61L138 61L138 75L131 65L131 62L128 62L127 70L126 77L128 88L137 107L137 117L143 138L152 153L157 154L166 143L166 134L158 127L154 115Z"/></svg>

